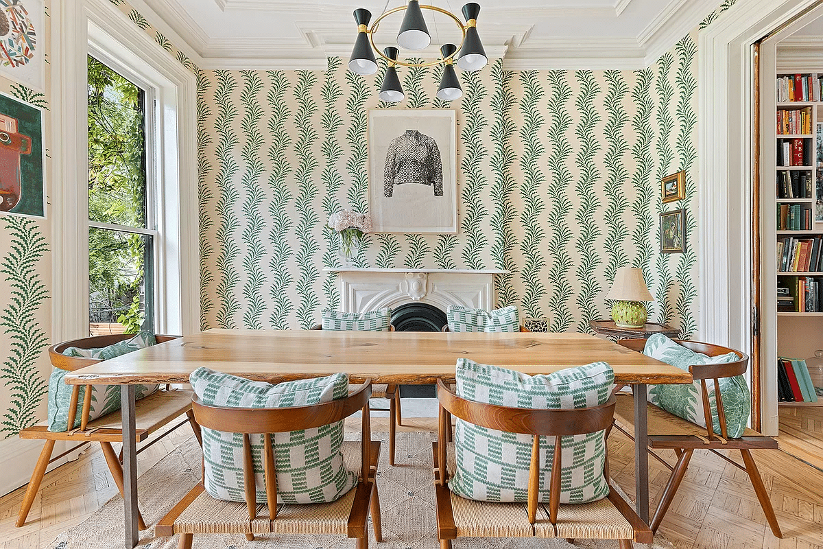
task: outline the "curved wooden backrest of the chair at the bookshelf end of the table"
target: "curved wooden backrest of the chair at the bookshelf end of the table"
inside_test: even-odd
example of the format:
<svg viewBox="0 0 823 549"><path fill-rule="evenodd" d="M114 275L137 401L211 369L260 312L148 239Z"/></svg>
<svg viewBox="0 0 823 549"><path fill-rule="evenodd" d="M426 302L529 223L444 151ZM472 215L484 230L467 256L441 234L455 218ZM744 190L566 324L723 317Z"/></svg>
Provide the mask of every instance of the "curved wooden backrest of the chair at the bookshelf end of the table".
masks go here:
<svg viewBox="0 0 823 549"><path fill-rule="evenodd" d="M738 356L737 361L726 362L723 364L700 364L690 365L689 371L691 377L695 381L700 380L700 395L703 399L703 413L706 421L706 431L709 435L709 440L714 438L714 426L712 421L712 406L709 401L709 389L706 388L706 379L714 381L714 402L716 404L716 412L718 422L720 424L720 435L723 439L728 439L728 429L726 427L726 412L723 407L723 394L720 393L720 379L733 378L736 375L741 375L746 372L749 364L749 357L746 353L736 351L729 347L721 345L714 345L712 343L692 342L684 339L673 339L673 342L682 345L691 351L699 352L707 356L721 356L728 353L734 353ZM645 339L623 339L618 341L621 346L631 349L632 351L643 352L646 347Z"/></svg>

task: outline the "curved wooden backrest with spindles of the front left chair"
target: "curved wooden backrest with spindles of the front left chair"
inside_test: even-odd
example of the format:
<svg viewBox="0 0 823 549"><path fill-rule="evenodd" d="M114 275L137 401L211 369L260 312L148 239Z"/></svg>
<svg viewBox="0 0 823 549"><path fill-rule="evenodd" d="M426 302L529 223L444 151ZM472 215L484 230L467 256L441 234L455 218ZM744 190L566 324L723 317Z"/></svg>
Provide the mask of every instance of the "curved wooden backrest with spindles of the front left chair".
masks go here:
<svg viewBox="0 0 823 549"><path fill-rule="evenodd" d="M275 468L272 433L314 429L342 421L358 410L363 412L360 438L362 468L360 482L368 482L371 469L371 421L369 398L371 379L346 398L332 402L282 408L238 408L203 404L192 398L194 418L201 427L243 435L243 483L249 520L257 518L257 489L254 483L252 444L249 435L263 435L263 477L266 485L266 502L269 520L277 518L277 470Z"/></svg>

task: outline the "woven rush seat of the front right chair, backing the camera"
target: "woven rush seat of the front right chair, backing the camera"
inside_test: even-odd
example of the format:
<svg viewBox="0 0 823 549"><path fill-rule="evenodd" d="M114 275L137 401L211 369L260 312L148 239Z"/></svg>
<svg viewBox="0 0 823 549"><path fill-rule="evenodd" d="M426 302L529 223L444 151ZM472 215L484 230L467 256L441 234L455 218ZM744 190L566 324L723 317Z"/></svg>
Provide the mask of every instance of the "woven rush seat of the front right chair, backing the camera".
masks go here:
<svg viewBox="0 0 823 549"><path fill-rule="evenodd" d="M435 469L437 468L436 444ZM449 470L457 467L454 444L447 448ZM438 472L435 471L435 477ZM614 493L614 492L612 492ZM616 495L616 494L615 494ZM562 537L594 539L632 539L635 536L631 523L616 505L625 503L609 498L579 505L560 505L557 523L552 524L546 504L537 504L537 514L532 525L528 521L528 505L525 503L491 503L467 500L449 491L456 537Z"/></svg>

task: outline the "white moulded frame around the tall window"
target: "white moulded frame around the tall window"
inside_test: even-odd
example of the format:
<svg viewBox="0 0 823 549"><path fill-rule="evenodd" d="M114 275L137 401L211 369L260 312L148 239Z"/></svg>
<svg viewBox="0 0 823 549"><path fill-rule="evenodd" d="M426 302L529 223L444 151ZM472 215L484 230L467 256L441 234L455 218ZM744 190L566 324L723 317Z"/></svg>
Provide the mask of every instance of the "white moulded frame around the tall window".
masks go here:
<svg viewBox="0 0 823 549"><path fill-rule="evenodd" d="M106 0L53 7L53 340L88 333L87 55L155 91L157 333L199 330L197 81ZM149 166L147 165L147 170ZM62 177L61 177L62 175Z"/></svg>

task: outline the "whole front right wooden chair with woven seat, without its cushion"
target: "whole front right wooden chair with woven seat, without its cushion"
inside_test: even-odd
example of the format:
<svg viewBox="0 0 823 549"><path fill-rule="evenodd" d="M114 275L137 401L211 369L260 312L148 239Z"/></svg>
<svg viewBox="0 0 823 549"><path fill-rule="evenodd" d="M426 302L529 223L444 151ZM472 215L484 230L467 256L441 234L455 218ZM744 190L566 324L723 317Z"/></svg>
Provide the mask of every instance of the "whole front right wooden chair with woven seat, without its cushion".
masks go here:
<svg viewBox="0 0 823 549"><path fill-rule="evenodd" d="M495 406L458 397L442 380L437 384L440 404L438 440L432 444L435 465L437 538L449 549L458 537L562 537L616 539L621 549L632 542L651 543L652 532L635 511L609 486L606 498L584 504L560 505L560 474L563 468L562 437L607 429L614 416L616 398L586 408L529 409ZM455 467L453 444L447 442L450 416L476 426L509 433L532 435L527 503L493 503L467 500L449 490L449 469ZM548 502L540 502L540 438L554 437ZM608 453L606 455L608 477Z"/></svg>

